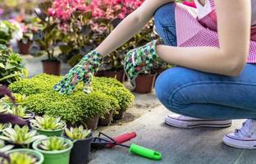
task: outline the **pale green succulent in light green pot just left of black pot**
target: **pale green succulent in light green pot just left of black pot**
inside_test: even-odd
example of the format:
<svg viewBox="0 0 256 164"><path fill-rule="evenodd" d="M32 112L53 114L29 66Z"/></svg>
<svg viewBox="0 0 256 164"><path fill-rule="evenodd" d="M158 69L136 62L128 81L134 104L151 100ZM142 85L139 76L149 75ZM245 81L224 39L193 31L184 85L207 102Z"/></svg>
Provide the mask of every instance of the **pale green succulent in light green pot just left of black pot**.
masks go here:
<svg viewBox="0 0 256 164"><path fill-rule="evenodd" d="M69 147L69 144L65 142L64 138L61 137L49 137L48 139L44 139L42 143L39 145L39 148L46 151L54 151L54 150L64 150Z"/></svg>

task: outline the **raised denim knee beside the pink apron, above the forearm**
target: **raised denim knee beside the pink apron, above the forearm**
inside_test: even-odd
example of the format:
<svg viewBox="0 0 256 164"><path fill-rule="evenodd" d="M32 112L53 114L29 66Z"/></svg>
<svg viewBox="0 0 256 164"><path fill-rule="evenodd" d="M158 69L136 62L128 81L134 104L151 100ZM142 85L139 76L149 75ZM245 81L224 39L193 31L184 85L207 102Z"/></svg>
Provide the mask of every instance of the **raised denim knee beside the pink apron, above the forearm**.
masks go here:
<svg viewBox="0 0 256 164"><path fill-rule="evenodd" d="M176 46L175 2L159 7L154 13L156 30L165 44Z"/></svg>

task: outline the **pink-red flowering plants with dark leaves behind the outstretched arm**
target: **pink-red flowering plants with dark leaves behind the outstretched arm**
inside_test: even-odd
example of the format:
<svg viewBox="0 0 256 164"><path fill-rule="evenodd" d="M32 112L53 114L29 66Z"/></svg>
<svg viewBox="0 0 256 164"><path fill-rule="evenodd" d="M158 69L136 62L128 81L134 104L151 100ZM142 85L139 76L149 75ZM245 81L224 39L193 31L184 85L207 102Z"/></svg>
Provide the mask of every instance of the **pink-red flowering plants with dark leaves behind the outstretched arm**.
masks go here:
<svg viewBox="0 0 256 164"><path fill-rule="evenodd" d="M99 43L144 0L55 0L48 9L62 30L60 49L69 64L75 66L87 52ZM124 55L130 48L143 45L152 39L153 21L121 48L105 58L104 70L121 69Z"/></svg>

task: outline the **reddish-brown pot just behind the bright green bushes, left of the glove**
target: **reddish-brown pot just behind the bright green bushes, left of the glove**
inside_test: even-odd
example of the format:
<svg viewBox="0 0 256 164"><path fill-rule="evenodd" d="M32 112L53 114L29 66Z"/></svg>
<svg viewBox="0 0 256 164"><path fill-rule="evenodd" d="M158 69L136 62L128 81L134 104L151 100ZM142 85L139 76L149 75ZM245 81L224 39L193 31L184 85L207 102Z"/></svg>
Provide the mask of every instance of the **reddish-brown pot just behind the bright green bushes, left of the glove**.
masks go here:
<svg viewBox="0 0 256 164"><path fill-rule="evenodd" d="M43 73L49 75L61 75L61 62L59 61L42 61Z"/></svg>

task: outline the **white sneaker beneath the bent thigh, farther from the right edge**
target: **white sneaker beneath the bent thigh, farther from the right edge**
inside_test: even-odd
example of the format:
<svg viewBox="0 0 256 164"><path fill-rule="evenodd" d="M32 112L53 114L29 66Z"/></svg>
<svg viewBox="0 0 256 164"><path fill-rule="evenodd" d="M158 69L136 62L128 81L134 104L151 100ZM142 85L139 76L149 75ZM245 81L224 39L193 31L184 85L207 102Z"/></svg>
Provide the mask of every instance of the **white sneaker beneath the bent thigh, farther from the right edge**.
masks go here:
<svg viewBox="0 0 256 164"><path fill-rule="evenodd" d="M182 116L178 114L167 115L165 118L167 125L178 128L196 128L196 127L220 127L225 128L231 126L231 120L213 120L213 119L199 119L190 116Z"/></svg>

